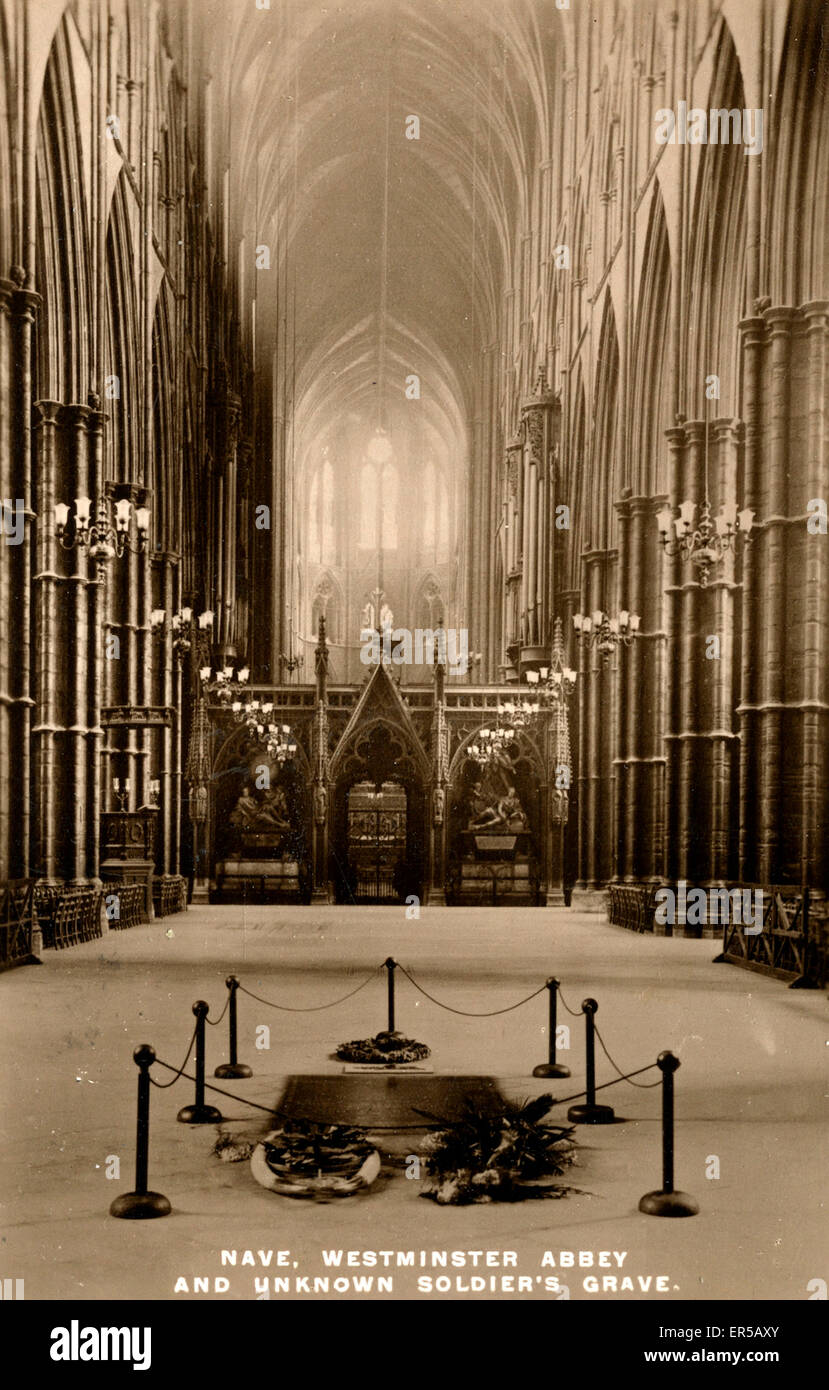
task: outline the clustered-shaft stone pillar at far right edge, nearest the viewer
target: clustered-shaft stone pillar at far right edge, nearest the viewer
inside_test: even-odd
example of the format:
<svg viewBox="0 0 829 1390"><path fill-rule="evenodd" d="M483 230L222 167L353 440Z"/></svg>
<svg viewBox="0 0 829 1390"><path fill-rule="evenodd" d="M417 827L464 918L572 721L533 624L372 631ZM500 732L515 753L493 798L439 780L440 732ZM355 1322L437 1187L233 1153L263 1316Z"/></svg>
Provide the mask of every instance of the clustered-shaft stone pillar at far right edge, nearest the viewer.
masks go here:
<svg viewBox="0 0 829 1390"><path fill-rule="evenodd" d="M740 325L746 505L757 512L743 592L740 877L826 881L829 681L826 537L810 502L829 495L825 302L769 307ZM814 516L815 509L811 509Z"/></svg>

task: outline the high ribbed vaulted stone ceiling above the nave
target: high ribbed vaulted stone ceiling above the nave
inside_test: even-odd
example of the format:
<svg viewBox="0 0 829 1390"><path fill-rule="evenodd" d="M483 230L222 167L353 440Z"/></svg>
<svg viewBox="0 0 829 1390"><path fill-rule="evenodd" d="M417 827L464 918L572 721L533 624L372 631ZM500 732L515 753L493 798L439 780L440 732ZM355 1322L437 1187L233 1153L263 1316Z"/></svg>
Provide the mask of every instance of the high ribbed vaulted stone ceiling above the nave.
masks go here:
<svg viewBox="0 0 829 1390"><path fill-rule="evenodd" d="M271 4L203 6L230 243L243 239L260 352L281 343L300 435L344 410L389 420L416 373L424 423L463 449L474 364L497 339L548 157L558 13L544 0ZM270 272L252 270L261 245Z"/></svg>

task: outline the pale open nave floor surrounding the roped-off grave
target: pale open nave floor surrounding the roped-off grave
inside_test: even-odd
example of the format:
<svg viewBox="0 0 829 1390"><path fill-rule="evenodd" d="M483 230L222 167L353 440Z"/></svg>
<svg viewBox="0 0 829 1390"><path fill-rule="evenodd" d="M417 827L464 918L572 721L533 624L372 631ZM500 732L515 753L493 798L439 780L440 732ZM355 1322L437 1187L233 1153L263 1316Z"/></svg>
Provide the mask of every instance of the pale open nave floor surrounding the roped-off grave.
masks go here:
<svg viewBox="0 0 829 1390"><path fill-rule="evenodd" d="M622 1083L599 1095L626 1123L577 1130L573 1182L583 1195L440 1208L423 1201L420 1184L402 1170L363 1198L309 1204L273 1195L253 1182L248 1163L224 1165L210 1155L213 1127L175 1122L192 1099L181 1080L152 1091L150 1187L170 1198L172 1215L152 1222L108 1216L113 1197L134 1186L138 1042L152 1042L178 1065L192 1002L204 998L218 1013L228 972L266 998L316 1005L345 994L389 954L441 1001L470 1011L509 1005L555 973L570 1006L586 995L598 999L597 1023L625 1070L663 1048L676 1051L676 1186L698 1200L700 1215L661 1220L637 1211L643 1193L661 1184L658 1088ZM821 1205L829 1152L826 998L712 965L715 954L712 941L636 935L566 909L431 908L409 922L402 908L235 906L191 908L47 952L45 965L0 976L0 1276L22 1277L26 1298L252 1298L253 1277L266 1270L223 1269L223 1250L236 1250L239 1259L246 1250L291 1251L289 1266L271 1265L271 1277L325 1273L323 1250L490 1250L515 1251L517 1264L478 1269L487 1286L492 1275L537 1283L558 1275L570 1298L807 1298L810 1280L829 1277ZM341 1063L330 1061L334 1045L366 1037L384 1020L385 972L353 999L312 1013L277 1012L239 995L239 1056L255 1077L218 1084L273 1104L289 1076L339 1074ZM430 1044L435 1073L491 1076L510 1097L583 1087L581 1020L559 1012L561 1022L573 1024L570 1055L562 1058L573 1076L533 1080L547 1051L545 995L499 1017L469 1019L435 1008L398 977L398 1026ZM255 1047L263 1023L268 1051ZM209 1030L209 1080L225 1059L225 1040L224 1026ZM597 1070L599 1081L613 1076L601 1052ZM227 1130L261 1131L266 1116L250 1120L243 1105L213 1101ZM104 1176L113 1154L121 1159L118 1180ZM712 1156L719 1179L707 1177ZM562 1268L566 1251L591 1252L594 1268ZM626 1252L622 1269L612 1254L609 1266L595 1268L601 1251ZM541 1264L544 1252L555 1265ZM213 1279L223 1273L231 1287L217 1294ZM476 1270L345 1273L391 1275L396 1298L434 1297L419 1294L417 1277L448 1275L451 1291L440 1297L463 1298L463 1280L469 1287ZM599 1289L602 1276L627 1276L634 1290L593 1293L597 1275ZM195 1276L210 1279L207 1295L192 1293ZM651 1282L643 1293L637 1276L668 1276L669 1290L654 1295ZM188 1293L174 1293L179 1277ZM542 1289L541 1282L538 1293L523 1297L555 1297ZM300 1289L291 1297L307 1294ZM517 1294L487 1287L477 1297Z"/></svg>

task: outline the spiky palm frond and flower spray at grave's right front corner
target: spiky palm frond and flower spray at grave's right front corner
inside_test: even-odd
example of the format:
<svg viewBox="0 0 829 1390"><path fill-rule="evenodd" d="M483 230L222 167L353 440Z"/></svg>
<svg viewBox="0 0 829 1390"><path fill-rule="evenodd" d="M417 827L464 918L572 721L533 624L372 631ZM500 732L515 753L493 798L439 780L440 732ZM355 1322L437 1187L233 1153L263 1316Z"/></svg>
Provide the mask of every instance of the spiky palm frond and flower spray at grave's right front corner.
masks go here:
<svg viewBox="0 0 829 1390"><path fill-rule="evenodd" d="M541 1123L552 1104L551 1095L538 1095L485 1112L467 1102L460 1119L428 1116L441 1127L421 1144L430 1177L421 1195L442 1207L463 1207L574 1191L556 1182L576 1162L573 1126Z"/></svg>

